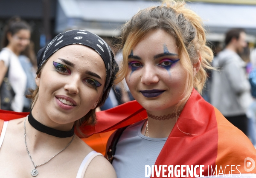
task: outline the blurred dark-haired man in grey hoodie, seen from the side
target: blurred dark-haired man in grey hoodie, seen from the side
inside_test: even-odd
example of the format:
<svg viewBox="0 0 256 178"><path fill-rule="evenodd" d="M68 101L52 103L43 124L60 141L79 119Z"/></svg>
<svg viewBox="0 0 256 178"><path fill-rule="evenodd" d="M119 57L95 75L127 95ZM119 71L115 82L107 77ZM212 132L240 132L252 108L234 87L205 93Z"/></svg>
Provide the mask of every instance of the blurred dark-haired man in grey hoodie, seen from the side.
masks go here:
<svg viewBox="0 0 256 178"><path fill-rule="evenodd" d="M214 59L211 102L233 125L247 134L247 108L252 102L250 83L246 77L246 63L239 57L247 46L243 29L227 32L225 45Z"/></svg>

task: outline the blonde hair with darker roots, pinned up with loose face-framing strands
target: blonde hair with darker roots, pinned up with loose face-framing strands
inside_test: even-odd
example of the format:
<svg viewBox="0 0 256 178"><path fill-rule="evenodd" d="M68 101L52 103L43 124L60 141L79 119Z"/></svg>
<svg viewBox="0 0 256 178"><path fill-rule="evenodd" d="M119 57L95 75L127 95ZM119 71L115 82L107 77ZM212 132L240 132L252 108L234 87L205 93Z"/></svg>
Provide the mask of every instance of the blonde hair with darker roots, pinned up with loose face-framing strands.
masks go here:
<svg viewBox="0 0 256 178"><path fill-rule="evenodd" d="M180 106L189 98L192 88L201 93L207 79L207 69L213 59L212 50L206 45L206 35L201 18L194 11L185 7L186 3L164 0L161 6L149 7L139 11L122 28L120 44L117 48L123 51L123 63L117 73L115 83L124 79L128 71L128 55L132 48L151 30L162 29L176 40L180 62L186 69L187 82L185 97ZM193 65L201 57L201 67L193 76ZM177 107L178 107L177 106Z"/></svg>

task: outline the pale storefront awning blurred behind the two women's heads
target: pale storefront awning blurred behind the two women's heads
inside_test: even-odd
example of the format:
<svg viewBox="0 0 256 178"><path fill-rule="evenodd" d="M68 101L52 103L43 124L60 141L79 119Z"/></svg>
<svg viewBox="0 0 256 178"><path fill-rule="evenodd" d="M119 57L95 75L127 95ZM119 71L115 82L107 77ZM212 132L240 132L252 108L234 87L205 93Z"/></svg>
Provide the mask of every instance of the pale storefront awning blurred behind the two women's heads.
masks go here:
<svg viewBox="0 0 256 178"><path fill-rule="evenodd" d="M129 0L58 0L55 32L82 28L100 36L120 34L124 24L140 9L158 6L157 1ZM222 37L229 28L245 28L248 34L256 36L256 6L188 3L203 20L209 32L208 37Z"/></svg>

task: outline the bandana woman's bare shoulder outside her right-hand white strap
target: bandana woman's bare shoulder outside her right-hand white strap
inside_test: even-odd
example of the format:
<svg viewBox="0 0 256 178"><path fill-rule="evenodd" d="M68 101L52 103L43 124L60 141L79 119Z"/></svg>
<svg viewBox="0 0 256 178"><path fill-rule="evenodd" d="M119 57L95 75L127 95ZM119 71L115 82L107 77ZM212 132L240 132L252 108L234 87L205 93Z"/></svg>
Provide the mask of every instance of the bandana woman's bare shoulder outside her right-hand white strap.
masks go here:
<svg viewBox="0 0 256 178"><path fill-rule="evenodd" d="M116 178L116 172L113 166L106 158L99 155L93 158L89 164L84 178Z"/></svg>

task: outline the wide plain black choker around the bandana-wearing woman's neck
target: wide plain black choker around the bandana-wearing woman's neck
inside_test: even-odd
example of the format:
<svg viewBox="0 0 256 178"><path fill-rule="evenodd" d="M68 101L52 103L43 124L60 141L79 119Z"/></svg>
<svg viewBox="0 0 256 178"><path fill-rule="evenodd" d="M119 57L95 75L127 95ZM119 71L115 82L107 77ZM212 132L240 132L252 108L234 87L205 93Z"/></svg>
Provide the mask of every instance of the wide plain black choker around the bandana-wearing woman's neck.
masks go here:
<svg viewBox="0 0 256 178"><path fill-rule="evenodd" d="M40 122L38 122L37 120L35 120L35 118L32 116L31 113L29 113L28 121L29 121L29 124L32 125L32 127L34 127L36 130L51 136L55 136L59 138L67 138L74 135L74 127L70 131L56 130L56 129L47 127L41 124Z"/></svg>

